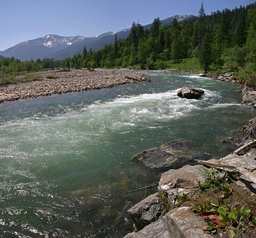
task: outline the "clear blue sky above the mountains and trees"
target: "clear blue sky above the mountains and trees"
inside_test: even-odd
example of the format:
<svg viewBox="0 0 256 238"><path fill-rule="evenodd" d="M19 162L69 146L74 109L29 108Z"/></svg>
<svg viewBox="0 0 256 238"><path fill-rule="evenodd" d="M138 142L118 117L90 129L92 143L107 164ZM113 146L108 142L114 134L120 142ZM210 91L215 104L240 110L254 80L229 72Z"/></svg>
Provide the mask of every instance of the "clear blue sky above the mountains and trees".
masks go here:
<svg viewBox="0 0 256 238"><path fill-rule="evenodd" d="M204 0L206 14L253 0ZM174 15L198 15L202 0L0 0L0 51L48 34L98 36Z"/></svg>

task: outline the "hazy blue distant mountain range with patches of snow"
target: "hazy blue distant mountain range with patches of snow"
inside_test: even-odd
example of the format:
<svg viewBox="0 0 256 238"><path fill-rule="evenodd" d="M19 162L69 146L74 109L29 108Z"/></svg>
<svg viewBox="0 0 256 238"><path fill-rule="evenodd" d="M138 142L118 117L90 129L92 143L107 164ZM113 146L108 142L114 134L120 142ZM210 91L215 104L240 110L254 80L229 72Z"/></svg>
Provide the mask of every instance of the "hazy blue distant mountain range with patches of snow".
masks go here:
<svg viewBox="0 0 256 238"><path fill-rule="evenodd" d="M176 15L170 18L161 20L161 25L170 25L173 18L176 18L178 22L195 18L194 15ZM144 26L144 29L149 29L152 24ZM67 57L73 57L77 52L82 52L84 45L86 49L90 48L94 51L102 49L106 44L113 44L115 35L118 39L126 39L130 34L131 28L123 29L119 32L106 32L99 36L84 37L84 36L58 36L58 35L46 35L34 40L24 41L13 47L0 51L0 54L4 57L14 56L22 61L30 60L31 58L36 60L38 58L54 58L65 59Z"/></svg>

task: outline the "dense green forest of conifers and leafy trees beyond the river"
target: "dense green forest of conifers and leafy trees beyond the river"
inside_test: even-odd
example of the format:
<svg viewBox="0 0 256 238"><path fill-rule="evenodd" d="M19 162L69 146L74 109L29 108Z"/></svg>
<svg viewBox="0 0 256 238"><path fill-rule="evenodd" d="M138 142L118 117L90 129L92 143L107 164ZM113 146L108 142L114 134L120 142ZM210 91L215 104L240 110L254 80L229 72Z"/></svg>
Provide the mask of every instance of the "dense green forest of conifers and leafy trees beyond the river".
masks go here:
<svg viewBox="0 0 256 238"><path fill-rule="evenodd" d="M57 61L3 59L0 83L1 79L20 72L52 67L177 68L214 73L232 71L245 80L255 78L256 4L206 15L202 3L195 19L178 23L174 18L170 25L161 26L156 18L149 30L133 22L126 39L118 39L116 35L113 44L97 52L87 51L85 46L81 51L72 58Z"/></svg>

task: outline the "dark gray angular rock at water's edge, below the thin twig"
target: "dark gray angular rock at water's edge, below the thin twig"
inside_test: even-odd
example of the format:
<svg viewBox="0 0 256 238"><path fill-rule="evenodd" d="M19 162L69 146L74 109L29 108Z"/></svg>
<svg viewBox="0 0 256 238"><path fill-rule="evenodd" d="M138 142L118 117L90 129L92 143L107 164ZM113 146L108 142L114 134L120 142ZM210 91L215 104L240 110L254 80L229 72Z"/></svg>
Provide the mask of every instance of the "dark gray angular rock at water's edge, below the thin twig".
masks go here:
<svg viewBox="0 0 256 238"><path fill-rule="evenodd" d="M148 196L128 210L138 231L166 214L161 199L157 195L158 193Z"/></svg>

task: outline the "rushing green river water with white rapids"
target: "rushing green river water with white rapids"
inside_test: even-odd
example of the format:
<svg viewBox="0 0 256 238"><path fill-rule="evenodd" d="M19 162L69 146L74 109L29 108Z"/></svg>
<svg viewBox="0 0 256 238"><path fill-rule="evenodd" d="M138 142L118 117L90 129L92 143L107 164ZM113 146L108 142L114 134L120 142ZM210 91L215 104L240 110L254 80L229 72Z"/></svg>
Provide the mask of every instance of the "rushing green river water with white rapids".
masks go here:
<svg viewBox="0 0 256 238"><path fill-rule="evenodd" d="M178 138L226 155L220 138L255 116L239 84L140 72L152 82L0 104L0 237L123 237L145 191L118 194L159 181L134 155Z"/></svg>

